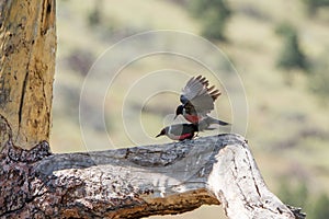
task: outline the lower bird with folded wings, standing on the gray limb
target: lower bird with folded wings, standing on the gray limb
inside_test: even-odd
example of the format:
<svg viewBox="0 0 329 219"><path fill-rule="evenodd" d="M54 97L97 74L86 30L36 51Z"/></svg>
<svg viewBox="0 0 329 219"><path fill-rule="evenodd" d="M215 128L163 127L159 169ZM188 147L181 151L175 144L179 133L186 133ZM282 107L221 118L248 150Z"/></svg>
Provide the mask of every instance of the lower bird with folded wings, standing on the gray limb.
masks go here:
<svg viewBox="0 0 329 219"><path fill-rule="evenodd" d="M172 140L185 140L185 139L193 139L194 134L197 132L197 126L194 124L174 124L171 126L167 126L161 129L160 134L156 136L156 138L160 136L167 136Z"/></svg>

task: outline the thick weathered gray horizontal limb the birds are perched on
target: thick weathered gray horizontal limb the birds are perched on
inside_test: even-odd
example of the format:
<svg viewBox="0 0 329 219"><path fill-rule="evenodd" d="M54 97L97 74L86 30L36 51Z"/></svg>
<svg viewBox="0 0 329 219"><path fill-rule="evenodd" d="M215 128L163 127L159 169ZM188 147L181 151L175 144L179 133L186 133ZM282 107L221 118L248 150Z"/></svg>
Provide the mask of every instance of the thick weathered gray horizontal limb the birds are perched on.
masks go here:
<svg viewBox="0 0 329 219"><path fill-rule="evenodd" d="M237 135L65 154L9 141L0 155L1 218L139 218L204 204L236 219L295 218Z"/></svg>

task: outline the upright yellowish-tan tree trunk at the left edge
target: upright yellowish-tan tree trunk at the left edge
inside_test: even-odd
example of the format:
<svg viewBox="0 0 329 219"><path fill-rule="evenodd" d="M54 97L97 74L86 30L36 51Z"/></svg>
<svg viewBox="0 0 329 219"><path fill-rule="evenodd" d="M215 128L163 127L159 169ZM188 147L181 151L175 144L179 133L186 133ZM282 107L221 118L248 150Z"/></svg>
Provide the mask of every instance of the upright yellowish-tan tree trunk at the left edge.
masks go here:
<svg viewBox="0 0 329 219"><path fill-rule="evenodd" d="M0 149L9 136L29 149L49 138L55 0L5 0L0 9Z"/></svg>

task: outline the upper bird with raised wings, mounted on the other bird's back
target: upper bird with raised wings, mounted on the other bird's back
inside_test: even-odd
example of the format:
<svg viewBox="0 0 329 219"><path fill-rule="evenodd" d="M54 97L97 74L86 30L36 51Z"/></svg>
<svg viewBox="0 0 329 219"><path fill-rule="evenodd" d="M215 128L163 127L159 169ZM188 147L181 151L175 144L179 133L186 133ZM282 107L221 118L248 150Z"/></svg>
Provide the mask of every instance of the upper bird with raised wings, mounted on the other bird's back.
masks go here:
<svg viewBox="0 0 329 219"><path fill-rule="evenodd" d="M200 126L198 130L212 129L208 128L212 124L230 125L207 115L214 110L214 102L222 94L219 90L215 89L215 85L208 85L209 82L205 77L192 77L182 89L180 95L182 104L177 107L174 119L179 115L183 115L186 120Z"/></svg>

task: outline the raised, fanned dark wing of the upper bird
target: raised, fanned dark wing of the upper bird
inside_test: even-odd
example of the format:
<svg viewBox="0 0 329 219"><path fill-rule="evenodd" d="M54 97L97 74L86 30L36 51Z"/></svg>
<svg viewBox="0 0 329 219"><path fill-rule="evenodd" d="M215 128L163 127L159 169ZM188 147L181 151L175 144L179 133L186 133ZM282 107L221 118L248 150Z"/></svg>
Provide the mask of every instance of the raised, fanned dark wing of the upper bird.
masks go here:
<svg viewBox="0 0 329 219"><path fill-rule="evenodd" d="M214 110L214 101L222 94L215 87L208 87L205 77L191 78L182 90L180 101L189 114L206 114Z"/></svg>

